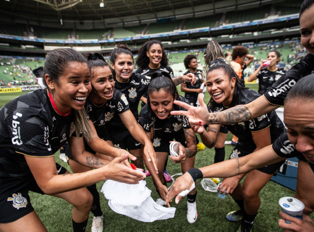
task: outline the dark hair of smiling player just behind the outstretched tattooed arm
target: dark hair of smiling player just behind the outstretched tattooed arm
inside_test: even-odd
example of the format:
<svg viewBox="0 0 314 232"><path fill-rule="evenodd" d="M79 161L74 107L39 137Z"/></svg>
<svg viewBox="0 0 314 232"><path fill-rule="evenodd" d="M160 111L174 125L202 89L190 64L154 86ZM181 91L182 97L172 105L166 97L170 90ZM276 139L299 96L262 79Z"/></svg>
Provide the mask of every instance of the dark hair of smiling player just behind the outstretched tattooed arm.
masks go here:
<svg viewBox="0 0 314 232"><path fill-rule="evenodd" d="M231 101L231 104L230 104L230 108L231 107L234 107L235 106L235 101L238 97L238 90L239 89L244 89L245 87L243 87L241 85L241 82L240 82L240 79L239 77L236 75L235 73L235 70L228 64L225 64L225 63L216 63L214 65L212 65L210 68L209 68L209 71L207 73L207 75L209 75L209 73L213 70L217 70L217 69L221 69L224 71L224 73L229 77L229 80L231 81L231 79L233 77L235 77L235 91L234 91L234 95L232 97L232 101ZM210 98L210 101L209 101L209 106L210 106L210 109L211 111L213 112L216 108L216 105L217 103L215 102L215 100L213 98Z"/></svg>

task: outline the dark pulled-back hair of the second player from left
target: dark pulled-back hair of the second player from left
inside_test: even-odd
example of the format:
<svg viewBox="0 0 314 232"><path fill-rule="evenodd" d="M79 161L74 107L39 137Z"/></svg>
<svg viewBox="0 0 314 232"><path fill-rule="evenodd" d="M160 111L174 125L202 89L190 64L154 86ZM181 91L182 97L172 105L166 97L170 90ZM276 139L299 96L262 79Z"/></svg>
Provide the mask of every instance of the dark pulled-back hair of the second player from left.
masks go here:
<svg viewBox="0 0 314 232"><path fill-rule="evenodd" d="M108 67L111 70L111 73L112 73L112 68L105 61L103 55L101 55L100 53L87 52L83 56L87 60L87 65L88 65L88 68L89 68L90 79L91 80L94 78L94 75L93 75L94 74L94 70L93 69L96 68L96 67ZM95 88L92 85L92 91L90 92L89 97L94 97L95 95L100 97L98 92L95 90Z"/></svg>

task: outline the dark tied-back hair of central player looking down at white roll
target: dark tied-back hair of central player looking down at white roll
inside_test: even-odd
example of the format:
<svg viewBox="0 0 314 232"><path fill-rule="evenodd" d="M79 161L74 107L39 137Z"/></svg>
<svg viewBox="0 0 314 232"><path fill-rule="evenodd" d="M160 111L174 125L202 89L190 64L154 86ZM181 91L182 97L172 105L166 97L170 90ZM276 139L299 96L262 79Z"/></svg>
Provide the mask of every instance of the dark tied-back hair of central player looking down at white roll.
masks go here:
<svg viewBox="0 0 314 232"><path fill-rule="evenodd" d="M151 104L150 104L150 95L153 92L159 92L163 90L165 92L170 92L173 99L175 100L176 96L179 96L178 90L176 85L174 84L173 80L171 79L169 73L164 71L156 71L151 76L151 82L147 89L147 103L148 103L148 110L153 113Z"/></svg>

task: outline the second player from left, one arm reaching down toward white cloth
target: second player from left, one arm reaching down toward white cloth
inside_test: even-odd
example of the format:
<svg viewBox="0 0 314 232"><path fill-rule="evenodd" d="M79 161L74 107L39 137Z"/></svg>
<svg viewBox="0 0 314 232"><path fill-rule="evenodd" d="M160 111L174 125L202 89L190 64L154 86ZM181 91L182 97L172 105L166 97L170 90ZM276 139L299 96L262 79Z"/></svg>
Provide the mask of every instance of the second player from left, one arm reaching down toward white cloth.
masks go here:
<svg viewBox="0 0 314 232"><path fill-rule="evenodd" d="M104 57L99 53L89 52L84 54L84 58L87 60L90 70L92 85L92 91L87 97L85 103L85 110L87 112L88 119L90 120L94 139L89 143L84 141L83 138L72 139L70 146L71 151L68 147L65 147L68 163L73 173L87 172L92 170L91 165L102 164L92 156L85 157L85 151L94 155L96 154L96 156L107 160L112 160L113 157L110 156L114 153L128 153L126 150L118 149L113 146L109 135L110 131L107 131L107 124L116 114L120 116L123 124L130 131L131 135L144 145L144 155L148 155L147 159L150 162L153 161L155 163L154 165L157 165L153 145L150 139L147 138L144 130L137 124L137 121L132 115L125 94L118 89L114 89L111 68L105 62ZM90 145L93 146L97 142L97 150L91 149ZM109 145L111 145L111 147ZM96 153L96 151L98 153ZM88 166L82 166L77 163L72 158L71 152L76 154L76 160L88 159ZM129 157L131 160L132 158L136 159L131 154L129 154ZM87 189L91 192L94 199L93 206L91 208L91 212L94 214L92 232L93 230L100 232L103 229L104 216L100 206L99 193L96 189L96 184L88 186Z"/></svg>

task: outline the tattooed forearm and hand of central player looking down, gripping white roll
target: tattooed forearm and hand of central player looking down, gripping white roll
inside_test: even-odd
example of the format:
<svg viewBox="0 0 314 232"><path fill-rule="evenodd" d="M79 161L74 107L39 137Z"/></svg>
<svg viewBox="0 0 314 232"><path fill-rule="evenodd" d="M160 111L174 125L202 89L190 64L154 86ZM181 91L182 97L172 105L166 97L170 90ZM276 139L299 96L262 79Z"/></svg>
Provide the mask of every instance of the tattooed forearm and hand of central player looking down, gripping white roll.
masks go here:
<svg viewBox="0 0 314 232"><path fill-rule="evenodd" d="M179 143L179 156L170 156L170 159L177 164L184 163L186 158L191 158L197 153L195 133L191 128L184 130L184 137L186 141L186 148Z"/></svg>

